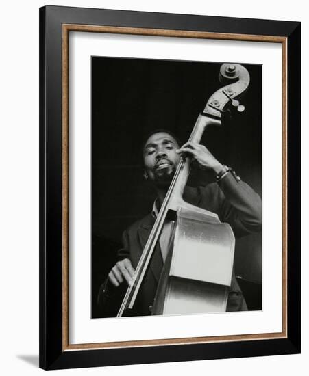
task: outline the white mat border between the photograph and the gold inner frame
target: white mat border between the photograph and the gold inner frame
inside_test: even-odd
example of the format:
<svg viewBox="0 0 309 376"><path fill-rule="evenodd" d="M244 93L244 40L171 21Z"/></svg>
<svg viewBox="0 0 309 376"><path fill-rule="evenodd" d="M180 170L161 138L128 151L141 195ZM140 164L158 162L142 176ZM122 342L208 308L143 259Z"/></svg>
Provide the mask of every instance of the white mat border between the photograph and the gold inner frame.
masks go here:
<svg viewBox="0 0 309 376"><path fill-rule="evenodd" d="M282 332L282 44L70 31L69 46L69 344ZM92 55L263 64L262 311L90 318Z"/></svg>

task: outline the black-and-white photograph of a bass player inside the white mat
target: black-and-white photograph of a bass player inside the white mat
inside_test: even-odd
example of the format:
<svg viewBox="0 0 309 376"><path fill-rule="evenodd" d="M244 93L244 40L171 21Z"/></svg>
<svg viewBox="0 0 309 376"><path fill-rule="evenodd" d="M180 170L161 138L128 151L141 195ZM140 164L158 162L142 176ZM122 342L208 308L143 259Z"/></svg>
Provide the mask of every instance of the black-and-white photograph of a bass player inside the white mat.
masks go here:
<svg viewBox="0 0 309 376"><path fill-rule="evenodd" d="M262 310L262 64L91 58L92 318Z"/></svg>

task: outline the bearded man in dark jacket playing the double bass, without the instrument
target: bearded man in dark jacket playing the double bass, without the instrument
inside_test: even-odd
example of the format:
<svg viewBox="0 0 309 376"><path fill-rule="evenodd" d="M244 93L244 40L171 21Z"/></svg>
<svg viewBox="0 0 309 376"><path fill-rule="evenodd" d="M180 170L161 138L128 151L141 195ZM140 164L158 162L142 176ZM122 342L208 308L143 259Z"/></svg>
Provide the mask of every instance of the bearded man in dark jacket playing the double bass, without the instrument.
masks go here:
<svg viewBox="0 0 309 376"><path fill-rule="evenodd" d="M147 137L143 146L143 175L145 179L153 183L157 198L153 204L153 211L123 232L123 248L117 254L118 261L112 267L106 282L102 284L97 298L97 303L105 313L114 310L110 315L116 314L123 299L123 290L133 283L134 269L181 157L190 157L201 169L212 170L216 176L216 182L206 187L186 187L184 190L186 202L216 213L221 222L230 224L235 237L260 232L262 228L260 197L249 185L240 180L234 171L222 165L206 146L187 142L180 148L173 133L165 130L154 131ZM131 312L134 316L151 314L170 237L171 221L166 219L154 251L151 267ZM230 312L247 310L234 271L226 310Z"/></svg>

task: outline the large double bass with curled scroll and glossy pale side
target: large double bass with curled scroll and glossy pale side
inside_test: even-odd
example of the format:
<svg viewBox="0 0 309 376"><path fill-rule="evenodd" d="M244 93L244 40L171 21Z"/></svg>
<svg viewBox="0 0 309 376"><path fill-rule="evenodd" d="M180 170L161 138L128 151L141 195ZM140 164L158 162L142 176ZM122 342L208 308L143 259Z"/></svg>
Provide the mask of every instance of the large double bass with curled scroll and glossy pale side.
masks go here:
<svg viewBox="0 0 309 376"><path fill-rule="evenodd" d="M239 112L245 110L236 98L249 86L247 69L240 64L222 64L219 80L224 86L210 96L199 114L191 142L199 143L208 126L221 126L229 105ZM134 307L167 215L174 219L173 230L152 314L225 312L234 263L234 234L217 214L184 201L189 174L190 158L181 158L117 317Z"/></svg>

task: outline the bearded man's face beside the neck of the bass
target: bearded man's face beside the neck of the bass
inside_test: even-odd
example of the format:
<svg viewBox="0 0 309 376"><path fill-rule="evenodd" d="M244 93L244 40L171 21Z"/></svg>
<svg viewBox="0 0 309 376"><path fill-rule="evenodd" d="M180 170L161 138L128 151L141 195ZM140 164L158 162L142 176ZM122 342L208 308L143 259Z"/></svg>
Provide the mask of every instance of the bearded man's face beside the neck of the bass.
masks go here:
<svg viewBox="0 0 309 376"><path fill-rule="evenodd" d="M171 183L180 155L177 141L169 133L154 133L144 146L144 176L157 185Z"/></svg>

